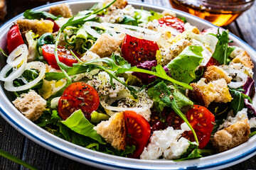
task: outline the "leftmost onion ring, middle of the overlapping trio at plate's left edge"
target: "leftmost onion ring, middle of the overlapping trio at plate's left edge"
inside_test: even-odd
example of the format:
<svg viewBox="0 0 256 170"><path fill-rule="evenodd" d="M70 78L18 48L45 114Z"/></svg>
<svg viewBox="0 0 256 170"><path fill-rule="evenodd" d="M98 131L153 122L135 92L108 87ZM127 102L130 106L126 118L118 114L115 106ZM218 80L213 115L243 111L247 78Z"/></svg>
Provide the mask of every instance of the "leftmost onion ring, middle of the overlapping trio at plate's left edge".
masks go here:
<svg viewBox="0 0 256 170"><path fill-rule="evenodd" d="M21 74L26 69L26 63L27 63L27 61L24 60L23 63L21 64L21 67L14 70L13 72L11 72L11 74L8 77L5 77L6 73L9 72L9 70L13 67L11 67L9 64L6 64L6 66L0 72L0 80L1 81L13 81L14 79L17 79L18 77L21 76Z"/></svg>

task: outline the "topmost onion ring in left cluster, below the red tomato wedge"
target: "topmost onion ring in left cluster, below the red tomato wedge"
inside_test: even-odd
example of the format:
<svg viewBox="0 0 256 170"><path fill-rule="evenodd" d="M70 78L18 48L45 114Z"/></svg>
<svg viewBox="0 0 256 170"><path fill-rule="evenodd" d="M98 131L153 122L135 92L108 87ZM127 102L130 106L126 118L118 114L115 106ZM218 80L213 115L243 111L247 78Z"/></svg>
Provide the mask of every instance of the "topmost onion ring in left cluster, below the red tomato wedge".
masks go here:
<svg viewBox="0 0 256 170"><path fill-rule="evenodd" d="M23 60L26 60L28 57L28 47L23 44L16 47L16 49L11 52L11 54L8 56L6 62L11 67L16 67L18 64L21 64Z"/></svg>

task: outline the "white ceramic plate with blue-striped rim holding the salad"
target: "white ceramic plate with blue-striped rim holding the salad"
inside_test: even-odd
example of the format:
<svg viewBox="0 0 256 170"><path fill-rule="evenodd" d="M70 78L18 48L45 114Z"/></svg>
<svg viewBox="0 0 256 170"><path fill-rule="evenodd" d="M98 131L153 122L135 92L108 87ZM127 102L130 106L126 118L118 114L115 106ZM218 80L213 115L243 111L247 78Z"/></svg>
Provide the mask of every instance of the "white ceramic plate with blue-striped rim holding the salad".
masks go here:
<svg viewBox="0 0 256 170"><path fill-rule="evenodd" d="M97 1L65 1L72 8L73 13L90 8ZM50 6L60 4L62 2L57 2L54 4L48 4L45 6L40 6L35 8L36 11L47 11ZM163 11L170 10L169 8L164 8L162 6L156 6L151 4L142 4L138 2L129 1L135 8L143 8L145 10L153 11ZM204 21L201 18L191 16L188 13L182 11L177 11L172 9L178 16L185 16L189 23L197 26L200 30L203 28L215 27L208 21ZM11 19L9 22L5 23L4 26L0 28L0 47L6 50L6 35L14 23L14 21L23 18L22 14ZM240 40L233 34L230 34L230 38L234 40L235 45L242 47L246 50L250 56L252 56L253 62L256 64L256 51L247 45L245 42ZM3 68L6 64L6 58L4 56L0 57L0 68ZM255 69L253 70L255 72ZM255 79L255 77L254 77ZM95 152L90 149L85 149L78 145L73 145L70 142L55 137L46 130L39 128L36 124L32 123L30 120L25 118L11 103L14 99L9 92L4 90L3 83L0 84L0 111L1 116L11 124L16 130L21 132L23 135L29 139L37 142L39 145L50 149L64 157L68 157L78 162L84 164L89 164L91 166L97 166L98 168L104 169L221 169L227 166L232 166L238 164L245 159L249 159L256 154L256 136L250 138L244 144L230 149L226 152L220 154L215 154L209 157L203 157L201 159L192 159L183 162L173 162L173 161L149 161L140 159L129 159L124 157L112 156L109 154L103 154L101 152ZM11 101L10 101L11 100Z"/></svg>

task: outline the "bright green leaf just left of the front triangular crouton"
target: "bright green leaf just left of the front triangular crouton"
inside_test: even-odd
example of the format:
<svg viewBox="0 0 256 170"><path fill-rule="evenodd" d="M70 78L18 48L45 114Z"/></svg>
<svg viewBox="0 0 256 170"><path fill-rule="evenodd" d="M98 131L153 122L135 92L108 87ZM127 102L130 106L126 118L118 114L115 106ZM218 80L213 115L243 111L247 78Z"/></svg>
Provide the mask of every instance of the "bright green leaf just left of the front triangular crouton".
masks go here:
<svg viewBox="0 0 256 170"><path fill-rule="evenodd" d="M93 129L94 125L85 118L81 110L75 111L68 119L61 121L61 123L80 135L90 137L100 144L105 144L102 137Z"/></svg>

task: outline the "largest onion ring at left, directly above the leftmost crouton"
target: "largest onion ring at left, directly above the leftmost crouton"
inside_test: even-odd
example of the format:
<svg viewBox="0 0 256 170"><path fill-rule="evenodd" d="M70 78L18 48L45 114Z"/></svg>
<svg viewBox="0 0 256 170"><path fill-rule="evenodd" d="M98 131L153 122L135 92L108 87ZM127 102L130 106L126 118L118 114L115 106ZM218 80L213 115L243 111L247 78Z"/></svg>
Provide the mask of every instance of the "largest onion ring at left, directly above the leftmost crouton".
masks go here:
<svg viewBox="0 0 256 170"><path fill-rule="evenodd" d="M46 73L46 64L43 64L43 62L29 62L28 64L26 64L26 69L37 69L38 71L40 71L40 73L38 77L36 77L36 79L23 86L15 87L13 81L6 81L4 83L4 88L8 91L23 91L30 89L31 87L38 84L38 82L41 81L41 79L43 79Z"/></svg>

